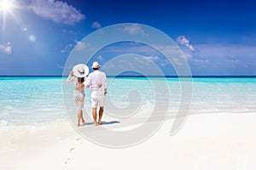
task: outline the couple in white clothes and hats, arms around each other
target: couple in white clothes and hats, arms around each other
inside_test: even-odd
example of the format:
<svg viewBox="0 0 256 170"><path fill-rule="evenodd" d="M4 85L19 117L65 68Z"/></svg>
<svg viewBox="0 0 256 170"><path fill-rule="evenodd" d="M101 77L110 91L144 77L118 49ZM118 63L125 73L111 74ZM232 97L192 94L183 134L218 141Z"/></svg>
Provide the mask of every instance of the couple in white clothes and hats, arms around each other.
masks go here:
<svg viewBox="0 0 256 170"><path fill-rule="evenodd" d="M102 125L102 116L105 105L105 97L107 94L107 78L106 74L100 71L101 65L94 62L91 68L94 70L89 75L89 68L87 65L79 64L73 67L70 71L67 82L75 83L74 98L78 110L78 127L84 124L83 109L84 109L84 88L90 88L90 102L92 108L92 116L94 125ZM88 77L86 77L88 75ZM97 106L100 106L99 117L97 120ZM81 124L82 123L82 124Z"/></svg>

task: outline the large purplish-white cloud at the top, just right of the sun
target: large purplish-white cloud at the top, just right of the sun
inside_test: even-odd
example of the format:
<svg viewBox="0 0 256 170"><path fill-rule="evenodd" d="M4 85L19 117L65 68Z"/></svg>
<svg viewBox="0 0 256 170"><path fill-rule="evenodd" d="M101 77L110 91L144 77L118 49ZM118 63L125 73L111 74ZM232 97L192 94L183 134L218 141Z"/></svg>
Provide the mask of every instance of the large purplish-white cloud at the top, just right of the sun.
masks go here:
<svg viewBox="0 0 256 170"><path fill-rule="evenodd" d="M78 9L62 1L32 0L29 8L38 16L67 25L73 25L85 18Z"/></svg>

